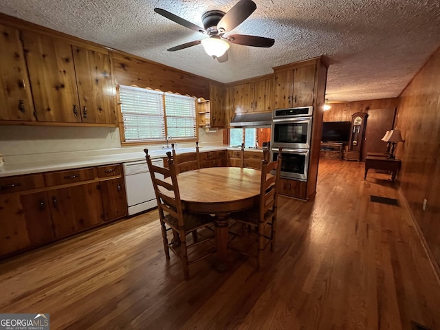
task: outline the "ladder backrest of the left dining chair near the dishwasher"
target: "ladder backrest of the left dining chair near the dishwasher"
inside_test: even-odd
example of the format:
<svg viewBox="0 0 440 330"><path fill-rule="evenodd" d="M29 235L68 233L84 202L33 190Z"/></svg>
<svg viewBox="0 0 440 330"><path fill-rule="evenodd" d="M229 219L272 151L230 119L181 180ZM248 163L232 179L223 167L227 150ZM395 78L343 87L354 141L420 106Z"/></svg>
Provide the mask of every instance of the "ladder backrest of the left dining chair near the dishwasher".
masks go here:
<svg viewBox="0 0 440 330"><path fill-rule="evenodd" d="M164 219L164 212L169 213L172 217L177 219L179 226L183 226L184 216L181 208L179 185L177 184L176 166L173 157L171 157L171 152L168 151L166 153L168 156L168 168L153 165L151 157L148 155L148 149L144 149L144 152L146 163L150 170L151 181L153 181L159 217ZM163 177L170 177L171 184L164 181Z"/></svg>

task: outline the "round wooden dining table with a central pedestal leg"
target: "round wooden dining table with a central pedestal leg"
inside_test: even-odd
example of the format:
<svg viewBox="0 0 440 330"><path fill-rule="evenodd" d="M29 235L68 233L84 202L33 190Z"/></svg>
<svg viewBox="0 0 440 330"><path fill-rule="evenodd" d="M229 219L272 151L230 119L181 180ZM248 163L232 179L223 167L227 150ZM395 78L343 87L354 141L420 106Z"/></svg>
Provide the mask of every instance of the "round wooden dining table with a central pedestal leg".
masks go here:
<svg viewBox="0 0 440 330"><path fill-rule="evenodd" d="M258 206L260 181L260 170L239 167L200 168L177 175L184 210L216 215L218 270L225 270L228 214Z"/></svg>

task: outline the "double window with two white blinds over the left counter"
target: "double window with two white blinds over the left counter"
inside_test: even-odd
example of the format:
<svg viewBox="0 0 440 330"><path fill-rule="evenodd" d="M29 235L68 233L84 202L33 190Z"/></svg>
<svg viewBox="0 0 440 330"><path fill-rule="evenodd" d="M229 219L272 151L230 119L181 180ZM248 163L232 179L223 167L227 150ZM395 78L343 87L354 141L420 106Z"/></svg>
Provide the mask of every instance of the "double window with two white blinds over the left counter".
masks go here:
<svg viewBox="0 0 440 330"><path fill-rule="evenodd" d="M196 138L195 98L120 86L125 141Z"/></svg>

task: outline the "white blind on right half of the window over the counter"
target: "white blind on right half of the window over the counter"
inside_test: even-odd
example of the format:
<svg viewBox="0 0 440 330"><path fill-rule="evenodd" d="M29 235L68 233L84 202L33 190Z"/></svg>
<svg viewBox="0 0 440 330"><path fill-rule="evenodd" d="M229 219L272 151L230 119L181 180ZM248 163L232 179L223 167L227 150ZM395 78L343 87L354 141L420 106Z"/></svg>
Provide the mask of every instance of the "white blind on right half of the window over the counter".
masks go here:
<svg viewBox="0 0 440 330"><path fill-rule="evenodd" d="M195 98L165 93L165 113L168 136L196 137Z"/></svg>

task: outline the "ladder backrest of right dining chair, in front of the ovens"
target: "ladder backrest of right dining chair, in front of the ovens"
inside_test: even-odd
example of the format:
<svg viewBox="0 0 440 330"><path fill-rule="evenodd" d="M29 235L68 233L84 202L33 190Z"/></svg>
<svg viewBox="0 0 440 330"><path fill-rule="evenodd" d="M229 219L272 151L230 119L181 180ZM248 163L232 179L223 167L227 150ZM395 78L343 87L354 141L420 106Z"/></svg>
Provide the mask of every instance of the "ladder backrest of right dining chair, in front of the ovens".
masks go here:
<svg viewBox="0 0 440 330"><path fill-rule="evenodd" d="M276 216L276 203L278 197L278 182L281 173L281 150L274 162L261 162L261 183L260 183L260 221L263 221L264 214L272 210ZM275 171L275 175L270 175Z"/></svg>

